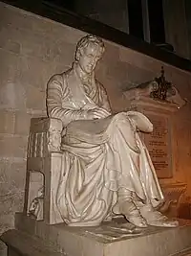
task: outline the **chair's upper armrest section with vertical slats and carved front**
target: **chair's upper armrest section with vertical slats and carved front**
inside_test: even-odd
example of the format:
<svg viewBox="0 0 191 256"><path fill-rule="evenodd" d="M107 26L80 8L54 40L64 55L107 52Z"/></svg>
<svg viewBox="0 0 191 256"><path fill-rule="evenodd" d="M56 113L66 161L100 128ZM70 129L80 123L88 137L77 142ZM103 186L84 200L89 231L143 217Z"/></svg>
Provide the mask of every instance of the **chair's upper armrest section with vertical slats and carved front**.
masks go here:
<svg viewBox="0 0 191 256"><path fill-rule="evenodd" d="M32 118L29 149L31 156L43 157L48 152L60 151L62 121L57 118Z"/></svg>

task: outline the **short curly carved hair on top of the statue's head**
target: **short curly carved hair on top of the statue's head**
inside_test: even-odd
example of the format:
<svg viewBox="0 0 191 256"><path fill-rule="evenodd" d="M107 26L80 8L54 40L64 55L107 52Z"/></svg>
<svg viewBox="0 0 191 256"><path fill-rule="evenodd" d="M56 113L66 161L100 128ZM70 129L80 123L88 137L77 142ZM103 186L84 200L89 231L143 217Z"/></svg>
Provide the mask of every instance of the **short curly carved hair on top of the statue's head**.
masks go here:
<svg viewBox="0 0 191 256"><path fill-rule="evenodd" d="M86 35L82 37L77 45L75 51L75 60L79 60L81 53L86 49L90 44L95 44L100 49L100 54L103 54L105 51L104 43L101 38L97 37L96 35Z"/></svg>

